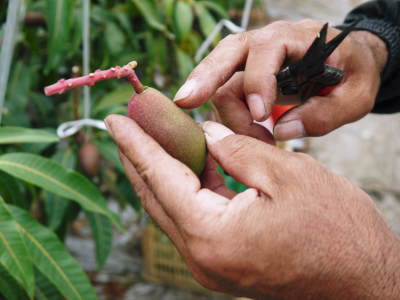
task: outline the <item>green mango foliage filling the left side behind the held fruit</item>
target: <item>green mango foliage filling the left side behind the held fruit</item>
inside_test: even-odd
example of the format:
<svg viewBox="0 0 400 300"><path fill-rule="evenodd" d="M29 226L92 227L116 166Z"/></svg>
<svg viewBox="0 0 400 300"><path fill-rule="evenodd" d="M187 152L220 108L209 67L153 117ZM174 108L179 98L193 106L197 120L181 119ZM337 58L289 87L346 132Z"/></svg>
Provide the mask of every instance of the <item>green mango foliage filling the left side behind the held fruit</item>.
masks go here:
<svg viewBox="0 0 400 300"><path fill-rule="evenodd" d="M194 67L196 50L217 22L230 18L240 24L244 2L91 1L90 69L136 60L142 82L171 97ZM0 2L0 41L8 3ZM107 132L85 129L63 140L55 135L59 124L82 117L81 93L75 90L45 97L43 88L59 78L80 75L82 23L82 0L23 1L0 127L0 219L7 222L3 228L14 228L5 232L6 239L14 241L18 251L6 251L7 259L0 258L0 279L7 283L0 284L0 298L95 297L81 268L60 240L65 239L71 223L83 212L101 268L111 250L111 224L120 226L106 201L117 201L120 210L127 205L137 211L140 208ZM132 92L123 80L92 87L91 118L125 114ZM208 109L203 107L200 113ZM243 190L232 178L226 179L232 189ZM69 190L60 188L64 185ZM82 195L77 197L73 192ZM1 253L6 249L2 246L0 243ZM13 255L20 260L12 260ZM31 261L30 256L38 260ZM57 265L52 266L46 257ZM18 263L22 263L24 272L15 271Z"/></svg>

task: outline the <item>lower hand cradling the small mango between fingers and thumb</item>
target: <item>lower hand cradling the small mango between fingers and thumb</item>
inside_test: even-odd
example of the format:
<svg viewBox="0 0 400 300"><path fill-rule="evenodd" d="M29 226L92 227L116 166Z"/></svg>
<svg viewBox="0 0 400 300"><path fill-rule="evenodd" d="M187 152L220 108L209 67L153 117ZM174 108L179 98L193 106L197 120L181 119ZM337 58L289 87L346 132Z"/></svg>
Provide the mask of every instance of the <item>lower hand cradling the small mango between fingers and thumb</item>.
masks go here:
<svg viewBox="0 0 400 300"><path fill-rule="evenodd" d="M212 159L202 186L134 121L106 123L143 207L205 287L262 299L398 299L399 241L364 192L309 156L206 122L211 157L249 187L235 194Z"/></svg>

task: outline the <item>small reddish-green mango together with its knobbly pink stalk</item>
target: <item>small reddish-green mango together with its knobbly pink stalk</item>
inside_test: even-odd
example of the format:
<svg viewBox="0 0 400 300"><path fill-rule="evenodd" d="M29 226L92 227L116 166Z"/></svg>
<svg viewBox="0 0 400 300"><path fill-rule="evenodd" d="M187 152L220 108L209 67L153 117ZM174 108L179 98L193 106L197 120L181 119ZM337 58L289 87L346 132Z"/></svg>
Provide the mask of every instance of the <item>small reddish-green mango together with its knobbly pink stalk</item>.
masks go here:
<svg viewBox="0 0 400 300"><path fill-rule="evenodd" d="M97 81L127 77L136 91L128 104L128 116L153 137L171 156L180 160L200 175L206 160L203 131L193 119L159 91L145 87L132 70L136 62L124 67L98 70L88 76L61 79L45 88L46 95L63 93L81 85Z"/></svg>

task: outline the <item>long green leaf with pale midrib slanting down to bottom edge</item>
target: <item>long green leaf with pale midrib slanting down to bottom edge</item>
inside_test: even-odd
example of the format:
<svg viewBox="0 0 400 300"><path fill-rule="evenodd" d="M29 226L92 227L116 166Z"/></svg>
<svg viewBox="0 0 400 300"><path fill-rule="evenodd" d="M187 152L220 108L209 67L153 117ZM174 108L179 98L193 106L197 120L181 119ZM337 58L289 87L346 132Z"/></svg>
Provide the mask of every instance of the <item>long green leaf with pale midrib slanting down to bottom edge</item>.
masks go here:
<svg viewBox="0 0 400 300"><path fill-rule="evenodd" d="M32 262L69 300L96 299L93 287L78 262L68 253L55 233L39 224L24 210L9 205L24 235Z"/></svg>

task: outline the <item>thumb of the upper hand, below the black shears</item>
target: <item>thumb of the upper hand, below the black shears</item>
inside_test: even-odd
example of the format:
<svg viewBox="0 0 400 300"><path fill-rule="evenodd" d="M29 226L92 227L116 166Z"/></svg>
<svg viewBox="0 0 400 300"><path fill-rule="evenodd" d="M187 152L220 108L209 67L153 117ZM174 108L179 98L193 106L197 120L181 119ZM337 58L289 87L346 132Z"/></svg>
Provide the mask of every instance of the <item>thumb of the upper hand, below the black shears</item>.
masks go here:
<svg viewBox="0 0 400 300"><path fill-rule="evenodd" d="M376 94L379 84L375 80L366 87L362 80L366 80L365 75L353 78L349 76L348 81L329 95L312 97L288 111L275 125L275 138L285 141L304 136L322 136L342 125L359 120L371 111L371 95Z"/></svg>

